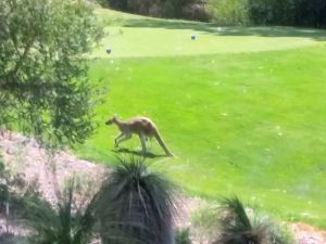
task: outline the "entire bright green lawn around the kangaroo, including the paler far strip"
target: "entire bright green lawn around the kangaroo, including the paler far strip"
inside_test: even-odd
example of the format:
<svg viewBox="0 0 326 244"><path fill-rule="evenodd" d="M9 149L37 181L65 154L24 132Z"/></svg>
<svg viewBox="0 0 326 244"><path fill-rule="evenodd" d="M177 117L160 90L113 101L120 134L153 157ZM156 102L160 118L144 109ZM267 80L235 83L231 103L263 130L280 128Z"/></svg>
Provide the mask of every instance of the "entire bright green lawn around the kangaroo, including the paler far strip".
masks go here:
<svg viewBox="0 0 326 244"><path fill-rule="evenodd" d="M145 115L177 155L155 157L152 140L148 160L189 195L237 194L326 228L326 31L98 13L106 37L89 77L109 92L79 156L113 164L118 131L104 121ZM121 145L140 151L137 137Z"/></svg>

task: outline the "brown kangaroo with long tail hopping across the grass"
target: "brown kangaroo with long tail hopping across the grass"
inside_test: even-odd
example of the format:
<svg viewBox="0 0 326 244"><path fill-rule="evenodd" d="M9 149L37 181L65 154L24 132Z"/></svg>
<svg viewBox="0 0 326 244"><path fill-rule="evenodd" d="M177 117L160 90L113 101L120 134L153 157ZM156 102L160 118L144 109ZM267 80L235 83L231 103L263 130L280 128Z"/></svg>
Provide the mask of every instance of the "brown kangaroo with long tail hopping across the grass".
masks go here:
<svg viewBox="0 0 326 244"><path fill-rule="evenodd" d="M155 124L151 119L147 117L134 117L127 121L121 121L116 116L113 116L105 123L105 125L109 126L112 124L115 124L121 131L121 134L114 140L115 147L117 147L121 142L129 140L133 133L136 133L139 136L141 142L142 155L146 155L147 139L154 137L164 150L165 154L167 156L174 156L166 147Z"/></svg>

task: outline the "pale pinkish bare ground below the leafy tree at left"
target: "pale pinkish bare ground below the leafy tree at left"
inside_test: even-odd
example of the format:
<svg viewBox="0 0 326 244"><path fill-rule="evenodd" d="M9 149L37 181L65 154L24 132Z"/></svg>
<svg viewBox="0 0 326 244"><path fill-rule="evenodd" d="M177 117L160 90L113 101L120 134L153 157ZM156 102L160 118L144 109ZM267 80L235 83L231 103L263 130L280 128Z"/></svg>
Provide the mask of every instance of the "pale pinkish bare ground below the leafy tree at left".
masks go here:
<svg viewBox="0 0 326 244"><path fill-rule="evenodd" d="M40 193L51 203L57 200L57 189L70 177L77 176L84 182L100 182L98 179L102 179L106 170L66 151L50 154L34 139L21 134L0 137L1 152L10 170L21 174L27 182L37 180Z"/></svg>

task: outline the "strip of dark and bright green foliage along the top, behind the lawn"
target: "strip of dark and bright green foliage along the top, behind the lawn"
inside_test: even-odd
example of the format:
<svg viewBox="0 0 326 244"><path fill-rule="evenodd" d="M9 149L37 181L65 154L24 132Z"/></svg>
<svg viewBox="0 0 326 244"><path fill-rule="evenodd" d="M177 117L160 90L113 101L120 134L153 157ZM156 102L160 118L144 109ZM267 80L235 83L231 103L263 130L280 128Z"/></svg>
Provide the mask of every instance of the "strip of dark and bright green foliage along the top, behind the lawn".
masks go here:
<svg viewBox="0 0 326 244"><path fill-rule="evenodd" d="M325 0L98 0L130 13L221 25L326 26Z"/></svg>

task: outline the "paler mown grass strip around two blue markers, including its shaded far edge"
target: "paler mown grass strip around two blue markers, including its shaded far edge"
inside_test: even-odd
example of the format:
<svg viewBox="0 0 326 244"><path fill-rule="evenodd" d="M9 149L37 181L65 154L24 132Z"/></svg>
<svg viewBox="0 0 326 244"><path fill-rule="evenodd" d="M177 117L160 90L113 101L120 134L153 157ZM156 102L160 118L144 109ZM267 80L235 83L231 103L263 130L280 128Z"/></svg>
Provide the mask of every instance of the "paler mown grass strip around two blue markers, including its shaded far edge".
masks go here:
<svg viewBox="0 0 326 244"><path fill-rule="evenodd" d="M106 13L106 15L105 15ZM196 22L148 18L99 10L108 36L92 57L175 56L260 52L317 46L326 31L291 27L221 27ZM108 16L106 18L104 16ZM197 40L191 41L191 35Z"/></svg>

